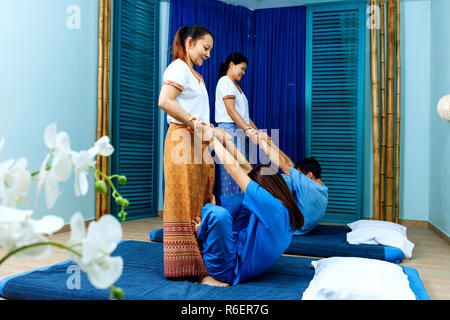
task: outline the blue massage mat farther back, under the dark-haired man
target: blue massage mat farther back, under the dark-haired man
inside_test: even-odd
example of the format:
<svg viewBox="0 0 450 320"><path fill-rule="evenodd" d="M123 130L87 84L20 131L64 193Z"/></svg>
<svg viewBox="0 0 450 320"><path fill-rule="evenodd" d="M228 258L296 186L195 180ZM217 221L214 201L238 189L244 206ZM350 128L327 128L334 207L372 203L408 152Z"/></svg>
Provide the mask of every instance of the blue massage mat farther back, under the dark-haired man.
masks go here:
<svg viewBox="0 0 450 320"><path fill-rule="evenodd" d="M393 263L402 262L404 255L399 248L373 245L349 244L347 226L318 225L306 235L292 237L290 246L284 253L313 257L360 257L384 260ZM163 241L163 229L150 232L150 240Z"/></svg>

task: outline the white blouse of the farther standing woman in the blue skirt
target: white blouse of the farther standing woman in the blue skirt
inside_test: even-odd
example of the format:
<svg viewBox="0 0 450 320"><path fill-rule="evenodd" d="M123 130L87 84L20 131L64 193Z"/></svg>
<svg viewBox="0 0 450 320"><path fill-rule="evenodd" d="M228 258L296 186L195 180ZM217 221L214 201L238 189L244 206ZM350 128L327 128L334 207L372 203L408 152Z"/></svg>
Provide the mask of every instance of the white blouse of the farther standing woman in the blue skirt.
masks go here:
<svg viewBox="0 0 450 320"><path fill-rule="evenodd" d="M216 115L217 123L234 123L228 115L224 99L234 98L234 107L245 123L249 123L248 100L242 90L228 76L223 76L217 82L216 87Z"/></svg>

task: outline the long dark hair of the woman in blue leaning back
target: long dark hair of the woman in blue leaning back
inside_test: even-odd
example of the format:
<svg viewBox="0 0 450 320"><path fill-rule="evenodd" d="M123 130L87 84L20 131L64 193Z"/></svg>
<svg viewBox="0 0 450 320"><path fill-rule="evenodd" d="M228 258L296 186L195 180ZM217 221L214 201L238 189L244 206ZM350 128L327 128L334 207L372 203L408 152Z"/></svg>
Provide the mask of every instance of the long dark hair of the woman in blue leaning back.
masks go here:
<svg viewBox="0 0 450 320"><path fill-rule="evenodd" d="M289 211L289 221L293 230L300 230L304 224L303 214L295 203L294 196L289 190L286 181L279 172L262 174L261 169L263 168L270 168L270 165L259 164L248 173L248 176L281 201Z"/></svg>

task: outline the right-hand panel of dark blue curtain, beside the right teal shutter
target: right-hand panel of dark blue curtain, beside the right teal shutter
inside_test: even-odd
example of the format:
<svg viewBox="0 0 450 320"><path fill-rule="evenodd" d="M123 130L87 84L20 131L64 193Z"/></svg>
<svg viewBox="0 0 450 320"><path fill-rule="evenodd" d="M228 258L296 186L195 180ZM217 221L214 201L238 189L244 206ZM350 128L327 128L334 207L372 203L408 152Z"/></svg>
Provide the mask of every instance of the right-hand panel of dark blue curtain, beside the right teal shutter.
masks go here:
<svg viewBox="0 0 450 320"><path fill-rule="evenodd" d="M296 162L305 154L306 9L255 10L254 20L250 117L260 129L279 129L280 149Z"/></svg>

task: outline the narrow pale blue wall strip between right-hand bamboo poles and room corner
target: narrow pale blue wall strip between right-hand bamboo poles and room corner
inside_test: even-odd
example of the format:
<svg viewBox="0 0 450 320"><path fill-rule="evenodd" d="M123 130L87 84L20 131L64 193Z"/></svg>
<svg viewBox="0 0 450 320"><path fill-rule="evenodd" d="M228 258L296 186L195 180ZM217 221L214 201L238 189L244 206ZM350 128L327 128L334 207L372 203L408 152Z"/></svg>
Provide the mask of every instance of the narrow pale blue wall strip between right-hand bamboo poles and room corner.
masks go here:
<svg viewBox="0 0 450 320"><path fill-rule="evenodd" d="M430 1L402 10L402 219L428 220L430 211Z"/></svg>

